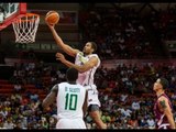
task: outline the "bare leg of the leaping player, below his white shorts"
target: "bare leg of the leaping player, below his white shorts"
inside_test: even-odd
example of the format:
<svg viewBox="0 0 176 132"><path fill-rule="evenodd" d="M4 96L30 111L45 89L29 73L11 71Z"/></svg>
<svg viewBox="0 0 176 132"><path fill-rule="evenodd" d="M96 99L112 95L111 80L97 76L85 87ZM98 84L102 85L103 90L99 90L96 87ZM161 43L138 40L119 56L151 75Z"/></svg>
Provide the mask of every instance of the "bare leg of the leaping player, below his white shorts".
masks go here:
<svg viewBox="0 0 176 132"><path fill-rule="evenodd" d="M98 129L107 129L107 124L102 122L99 106L98 105L90 105L88 107L89 116L97 124Z"/></svg>

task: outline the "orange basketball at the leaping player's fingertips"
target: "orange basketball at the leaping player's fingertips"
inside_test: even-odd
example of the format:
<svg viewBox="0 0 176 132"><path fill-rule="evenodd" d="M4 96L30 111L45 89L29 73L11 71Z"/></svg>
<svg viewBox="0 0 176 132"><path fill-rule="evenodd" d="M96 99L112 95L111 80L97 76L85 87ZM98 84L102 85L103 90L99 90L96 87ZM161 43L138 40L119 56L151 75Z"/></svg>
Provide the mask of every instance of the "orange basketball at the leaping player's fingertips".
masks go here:
<svg viewBox="0 0 176 132"><path fill-rule="evenodd" d="M48 11L46 13L46 18L45 20L47 21L47 23L50 24L57 24L59 21L59 14L56 11Z"/></svg>

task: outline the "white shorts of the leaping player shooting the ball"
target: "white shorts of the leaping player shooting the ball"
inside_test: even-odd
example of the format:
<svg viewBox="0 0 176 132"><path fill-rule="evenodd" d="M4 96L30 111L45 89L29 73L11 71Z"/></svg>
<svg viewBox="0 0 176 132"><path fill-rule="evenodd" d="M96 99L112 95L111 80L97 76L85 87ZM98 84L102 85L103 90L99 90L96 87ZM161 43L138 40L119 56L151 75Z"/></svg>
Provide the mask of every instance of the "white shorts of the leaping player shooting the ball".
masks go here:
<svg viewBox="0 0 176 132"><path fill-rule="evenodd" d="M91 86L84 86L88 90L88 107L90 105L98 105L101 106L99 99L98 99L98 90L96 85Z"/></svg>

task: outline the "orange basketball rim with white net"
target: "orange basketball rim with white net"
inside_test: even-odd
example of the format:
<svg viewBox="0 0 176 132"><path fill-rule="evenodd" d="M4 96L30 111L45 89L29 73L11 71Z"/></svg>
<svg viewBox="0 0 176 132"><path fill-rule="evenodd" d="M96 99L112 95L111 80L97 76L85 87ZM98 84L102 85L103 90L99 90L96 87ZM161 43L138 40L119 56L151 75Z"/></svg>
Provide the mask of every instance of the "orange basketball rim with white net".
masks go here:
<svg viewBox="0 0 176 132"><path fill-rule="evenodd" d="M12 22L15 43L33 43L40 23L40 15L26 13Z"/></svg>

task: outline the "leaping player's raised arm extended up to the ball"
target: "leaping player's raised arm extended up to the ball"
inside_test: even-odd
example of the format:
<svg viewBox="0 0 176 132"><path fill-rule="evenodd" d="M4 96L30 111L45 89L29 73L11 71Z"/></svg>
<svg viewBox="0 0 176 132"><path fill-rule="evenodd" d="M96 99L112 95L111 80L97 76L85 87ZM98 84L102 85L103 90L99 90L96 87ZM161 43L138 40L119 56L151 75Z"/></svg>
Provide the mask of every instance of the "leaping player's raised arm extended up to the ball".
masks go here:
<svg viewBox="0 0 176 132"><path fill-rule="evenodd" d="M46 21L46 20L45 20ZM47 23L47 21L46 21ZM61 38L61 36L57 34L56 30L55 30L55 25L54 24L48 24L48 28L51 29L52 31L52 34L54 36L54 40L56 41L56 44L68 55L75 57L76 54L79 52L78 50L75 50L73 47L70 47L68 44L65 44L63 42L63 40Z"/></svg>

